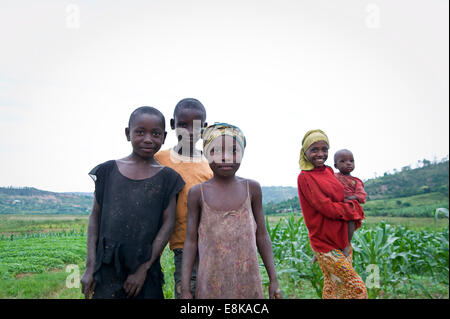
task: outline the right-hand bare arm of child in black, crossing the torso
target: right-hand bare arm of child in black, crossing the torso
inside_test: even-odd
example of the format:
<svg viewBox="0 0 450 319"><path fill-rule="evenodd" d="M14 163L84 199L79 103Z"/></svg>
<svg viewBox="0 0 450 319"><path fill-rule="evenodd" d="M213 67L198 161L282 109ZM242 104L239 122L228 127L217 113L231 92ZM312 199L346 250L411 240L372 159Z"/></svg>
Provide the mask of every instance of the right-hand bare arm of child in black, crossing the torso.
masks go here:
<svg viewBox="0 0 450 319"><path fill-rule="evenodd" d="M166 247L169 242L170 236L173 232L173 227L175 225L175 208L176 197L173 196L169 202L169 205L162 214L162 225L153 240L152 256L150 257L150 260L140 265L136 272L129 275L125 280L123 288L128 297L136 297L139 294L144 286L147 271L153 265L155 260L161 256L164 247Z"/></svg>

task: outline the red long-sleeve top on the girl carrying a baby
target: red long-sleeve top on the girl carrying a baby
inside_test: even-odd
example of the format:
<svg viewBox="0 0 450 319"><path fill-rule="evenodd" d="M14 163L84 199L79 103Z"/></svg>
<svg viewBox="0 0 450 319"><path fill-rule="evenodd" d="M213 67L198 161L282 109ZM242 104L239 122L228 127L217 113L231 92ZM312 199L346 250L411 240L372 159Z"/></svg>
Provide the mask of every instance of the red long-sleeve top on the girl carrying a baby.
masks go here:
<svg viewBox="0 0 450 319"><path fill-rule="evenodd" d="M357 229L364 219L364 211L358 201L344 202L344 186L329 166L301 171L297 183L311 248L317 252L329 252L347 247L348 221L355 221Z"/></svg>

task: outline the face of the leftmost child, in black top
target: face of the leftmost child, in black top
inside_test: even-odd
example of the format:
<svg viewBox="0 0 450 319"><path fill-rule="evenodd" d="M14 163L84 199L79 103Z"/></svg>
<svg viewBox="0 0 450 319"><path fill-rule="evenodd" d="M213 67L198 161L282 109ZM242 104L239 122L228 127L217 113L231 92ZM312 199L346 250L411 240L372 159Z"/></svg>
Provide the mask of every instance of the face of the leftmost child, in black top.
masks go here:
<svg viewBox="0 0 450 319"><path fill-rule="evenodd" d="M141 114L125 129L133 153L144 158L152 158L164 144L166 132L161 118L154 114Z"/></svg>

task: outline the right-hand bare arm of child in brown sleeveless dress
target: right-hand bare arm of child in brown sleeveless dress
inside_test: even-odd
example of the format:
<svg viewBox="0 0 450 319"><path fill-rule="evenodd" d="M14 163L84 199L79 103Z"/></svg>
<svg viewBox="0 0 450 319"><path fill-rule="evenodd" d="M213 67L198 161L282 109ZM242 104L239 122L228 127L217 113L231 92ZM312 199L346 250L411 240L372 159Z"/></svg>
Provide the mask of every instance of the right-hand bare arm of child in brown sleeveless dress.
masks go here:
<svg viewBox="0 0 450 319"><path fill-rule="evenodd" d="M270 242L269 233L267 232L266 222L264 219L261 186L258 182L249 180L249 188L252 199L253 216L255 217L257 225L256 244L270 280L269 298L279 299L281 298L281 293L278 285L275 264L273 261L272 243Z"/></svg>

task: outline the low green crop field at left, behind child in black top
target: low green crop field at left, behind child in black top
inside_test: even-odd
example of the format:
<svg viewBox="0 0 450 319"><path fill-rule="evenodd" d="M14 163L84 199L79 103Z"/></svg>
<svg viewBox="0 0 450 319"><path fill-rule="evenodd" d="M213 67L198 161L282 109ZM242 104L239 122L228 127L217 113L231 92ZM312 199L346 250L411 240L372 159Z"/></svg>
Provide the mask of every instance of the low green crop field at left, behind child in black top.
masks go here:
<svg viewBox="0 0 450 319"><path fill-rule="evenodd" d="M80 287L66 287L70 274L66 266L76 265L80 276L83 274L85 230L1 234L0 298L84 298ZM161 264L166 280L164 296L174 298L173 253L168 248L163 252Z"/></svg>

